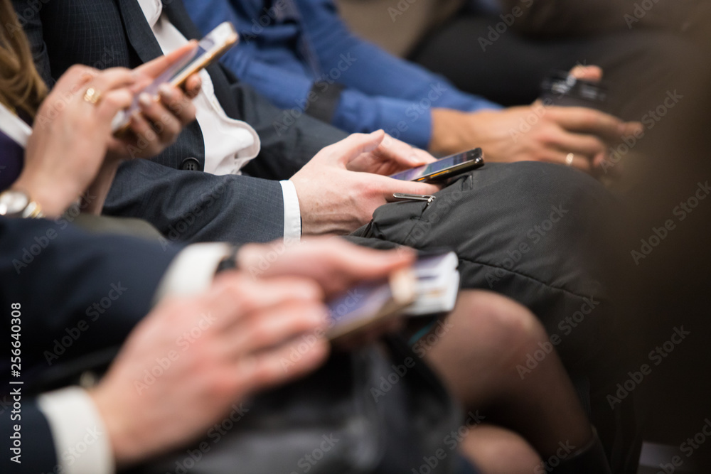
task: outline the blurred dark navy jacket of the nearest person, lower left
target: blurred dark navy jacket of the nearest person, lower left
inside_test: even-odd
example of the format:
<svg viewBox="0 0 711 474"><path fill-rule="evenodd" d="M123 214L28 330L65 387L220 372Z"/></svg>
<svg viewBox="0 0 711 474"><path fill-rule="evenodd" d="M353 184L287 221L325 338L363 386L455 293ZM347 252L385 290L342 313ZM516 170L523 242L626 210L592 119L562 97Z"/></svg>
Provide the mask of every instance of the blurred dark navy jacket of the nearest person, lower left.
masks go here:
<svg viewBox="0 0 711 474"><path fill-rule="evenodd" d="M180 250L132 237L88 235L65 219L0 218L0 333L8 344L14 341L11 311L19 303L21 377L15 380L24 382L8 383L10 354L1 357L0 472L55 472L52 437L31 397L32 385L56 375L58 367L69 369L82 355L120 345L149 312ZM21 419L11 420L15 387L21 387ZM21 465L9 456L14 424L22 427Z"/></svg>

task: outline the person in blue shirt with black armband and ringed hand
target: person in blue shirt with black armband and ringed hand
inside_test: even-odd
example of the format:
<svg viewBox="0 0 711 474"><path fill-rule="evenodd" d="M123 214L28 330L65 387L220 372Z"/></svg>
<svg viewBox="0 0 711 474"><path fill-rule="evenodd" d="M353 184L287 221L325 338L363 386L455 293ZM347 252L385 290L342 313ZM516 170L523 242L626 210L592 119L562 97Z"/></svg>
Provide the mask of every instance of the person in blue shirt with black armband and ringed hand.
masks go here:
<svg viewBox="0 0 711 474"><path fill-rule="evenodd" d="M286 129L305 107L307 114L340 129L384 129L432 153L481 146L489 161L559 164L574 153L577 159L567 164L592 172L609 147L637 127L589 109L552 107L542 113L538 103L502 110L355 37L332 0L184 3L203 33L223 21L237 26L242 41L222 62L277 107L289 109L275 122L277 129ZM596 68L576 73L600 78ZM515 88L515 82L500 82ZM531 121L532 130L513 136L532 116L538 118Z"/></svg>

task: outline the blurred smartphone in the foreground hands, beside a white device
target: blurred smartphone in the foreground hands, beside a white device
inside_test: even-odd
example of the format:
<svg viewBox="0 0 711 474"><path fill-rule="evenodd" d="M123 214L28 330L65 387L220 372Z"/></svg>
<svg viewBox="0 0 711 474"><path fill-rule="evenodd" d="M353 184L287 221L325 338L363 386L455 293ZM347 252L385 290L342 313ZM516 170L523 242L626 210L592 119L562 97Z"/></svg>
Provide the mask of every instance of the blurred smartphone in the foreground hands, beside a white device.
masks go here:
<svg viewBox="0 0 711 474"><path fill-rule="evenodd" d="M412 269L395 271L388 279L369 281L328 302L331 325L328 340L362 332L378 323L400 316L415 301L417 279Z"/></svg>

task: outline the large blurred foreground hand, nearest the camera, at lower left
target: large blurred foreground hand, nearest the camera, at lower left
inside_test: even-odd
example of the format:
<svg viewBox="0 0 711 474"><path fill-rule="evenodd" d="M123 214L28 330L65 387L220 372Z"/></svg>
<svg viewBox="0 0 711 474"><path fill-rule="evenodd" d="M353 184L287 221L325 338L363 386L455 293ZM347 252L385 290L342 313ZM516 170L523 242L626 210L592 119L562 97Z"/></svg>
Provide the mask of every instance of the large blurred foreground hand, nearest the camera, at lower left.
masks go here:
<svg viewBox="0 0 711 474"><path fill-rule="evenodd" d="M119 468L204 436L232 404L321 365L328 343L309 338L304 352L299 335L326 328L322 298L303 279L230 272L152 311L90 392Z"/></svg>

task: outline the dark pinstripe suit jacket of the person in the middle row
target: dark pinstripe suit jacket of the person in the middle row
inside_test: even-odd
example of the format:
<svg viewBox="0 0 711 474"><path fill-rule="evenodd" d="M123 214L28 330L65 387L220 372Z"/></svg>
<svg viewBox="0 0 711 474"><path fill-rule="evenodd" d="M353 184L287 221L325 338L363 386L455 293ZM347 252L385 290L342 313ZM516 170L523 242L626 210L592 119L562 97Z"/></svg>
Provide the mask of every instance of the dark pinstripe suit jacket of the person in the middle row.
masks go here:
<svg viewBox="0 0 711 474"><path fill-rule="evenodd" d="M100 69L135 68L161 55L136 0L13 0L13 4L48 82L77 63ZM164 9L186 37L198 37L181 1L166 1ZM281 186L274 180L291 177L316 152L346 134L307 116L285 131L277 130L274 124L287 112L238 83L220 65L209 72L225 112L254 127L262 141L260 155L244 169L250 176L186 171L204 167L203 136L194 123L152 162L136 160L122 166L105 213L142 217L171 240L268 242L282 237L284 204Z"/></svg>

